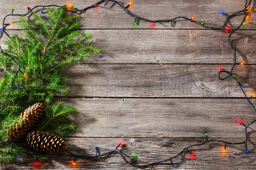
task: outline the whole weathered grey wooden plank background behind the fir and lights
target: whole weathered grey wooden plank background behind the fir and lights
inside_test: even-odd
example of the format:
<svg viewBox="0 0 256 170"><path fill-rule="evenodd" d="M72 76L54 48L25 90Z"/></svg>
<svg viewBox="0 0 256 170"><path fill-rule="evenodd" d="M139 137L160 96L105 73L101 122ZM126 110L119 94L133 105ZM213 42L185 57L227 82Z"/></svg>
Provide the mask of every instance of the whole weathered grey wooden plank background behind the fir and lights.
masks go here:
<svg viewBox="0 0 256 170"><path fill-rule="evenodd" d="M14 13L25 13L26 6L63 5L70 3L84 8L97 0L1 0L2 21L15 6ZM120 0L123 5L127 0ZM245 0L134 0L129 8L135 14L151 20L170 19L179 15L195 15L206 25L222 26L227 14L244 8ZM76 106L73 116L77 129L68 134L69 149L75 153L94 154L113 150L119 140L127 157L132 151L138 155L137 163L167 159L184 147L209 138L230 142L244 140L244 128L236 125L256 119L252 107L243 98L234 79L218 79L218 66L228 70L233 63L233 53L228 44L228 34L205 30L187 21L177 21L174 29L170 23L156 24L141 21L132 26L134 18L117 5L108 3L81 14L83 29L93 35L92 42L102 49L103 57L91 55L62 72L67 76L70 94L57 95L67 106ZM246 86L246 93L256 92L256 0L253 0L247 26L233 35L232 42L238 51L235 72ZM243 16L233 18L235 28ZM6 22L17 21L8 17ZM7 27L8 34L21 33L14 25ZM3 45L3 43L2 43ZM253 99L253 102L256 102ZM174 159L180 170L253 170L256 169L256 139L253 125L249 128L248 149L245 146L207 144L195 147L196 159L188 154ZM118 155L104 159L78 159L48 155L41 167L33 167L32 160L20 161L2 167L3 170L138 170L125 164ZM172 169L170 164L154 167L156 170Z"/></svg>

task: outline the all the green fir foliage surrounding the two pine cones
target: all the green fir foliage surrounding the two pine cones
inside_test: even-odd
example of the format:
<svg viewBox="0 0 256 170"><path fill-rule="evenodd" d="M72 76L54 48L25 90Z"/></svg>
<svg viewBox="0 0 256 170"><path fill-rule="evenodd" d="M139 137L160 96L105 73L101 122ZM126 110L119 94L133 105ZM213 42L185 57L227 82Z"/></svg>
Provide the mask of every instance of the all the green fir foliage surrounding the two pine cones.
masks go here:
<svg viewBox="0 0 256 170"><path fill-rule="evenodd" d="M100 50L88 44L92 38L89 32L78 30L81 28L78 14L68 15L61 8L48 8L45 13L33 13L35 21L21 18L17 26L23 30L22 37L12 34L4 41L7 48L0 54L0 70L5 73L0 78L0 102L5 100L17 71L17 62L11 60L11 56L17 58L20 70L0 113L0 139L8 139L8 130L22 123L18 115L35 102L47 105L38 130L64 137L68 130L75 128L69 119L76 112L75 107L64 108L64 102L48 104L56 93L68 93L69 87L64 84L66 77L58 75L61 69ZM15 161L17 154L16 150L0 143L0 163ZM44 159L44 156L37 158Z"/></svg>

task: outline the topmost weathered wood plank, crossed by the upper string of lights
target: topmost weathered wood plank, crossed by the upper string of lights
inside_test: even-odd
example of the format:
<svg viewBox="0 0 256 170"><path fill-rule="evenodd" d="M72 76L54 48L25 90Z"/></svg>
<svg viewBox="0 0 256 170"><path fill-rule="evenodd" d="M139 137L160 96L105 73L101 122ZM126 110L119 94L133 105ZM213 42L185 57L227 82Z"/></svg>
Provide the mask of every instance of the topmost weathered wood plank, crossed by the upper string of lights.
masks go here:
<svg viewBox="0 0 256 170"><path fill-rule="evenodd" d="M3 20L3 17L6 14L10 14L12 7L15 6L14 14L21 13L24 14L27 12L27 6L35 5L64 5L64 3L70 3L77 8L85 8L91 6L94 3L99 2L99 0L72 0L72 1L63 1L63 0L19 0L13 1L2 0L1 1L1 11L0 11L0 21ZM119 0L123 5L127 5L127 0ZM122 8L118 5L113 5L113 3L108 3L106 8L103 7L104 4L101 4L97 8L90 9L89 11L81 14L81 20L83 21L83 28L89 29L98 29L98 28L134 28L134 18L126 14ZM219 14L220 9L225 9L227 14L232 14L233 12L240 11L244 9L245 0L162 0L161 2L156 0L136 0L134 5L128 8L134 14L137 14L141 17L148 18L151 20L160 20L160 19L171 19L177 16L187 16L191 17L195 15L195 20L205 21L205 25L208 26L222 26L225 16ZM255 1L252 3L253 10L250 11L250 19L247 20L248 26L243 26L244 29L255 29L256 23L256 13L255 11ZM40 11L40 10L39 10ZM233 18L232 27L238 26L242 21L243 16ZM17 21L18 17L8 17L6 22ZM139 22L140 26L137 28L170 28L170 23L161 23L156 24L154 27L151 27L151 23L148 22ZM190 23L188 21L177 21L174 23L175 28L178 29L202 29L201 26ZM12 27L15 28L15 27ZM12 29L11 28L11 29Z"/></svg>

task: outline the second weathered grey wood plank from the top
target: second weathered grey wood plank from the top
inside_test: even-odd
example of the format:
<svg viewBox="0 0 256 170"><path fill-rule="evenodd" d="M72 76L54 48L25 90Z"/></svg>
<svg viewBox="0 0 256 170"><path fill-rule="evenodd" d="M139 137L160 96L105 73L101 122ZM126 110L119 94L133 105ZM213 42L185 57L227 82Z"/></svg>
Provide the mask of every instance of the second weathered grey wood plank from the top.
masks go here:
<svg viewBox="0 0 256 170"><path fill-rule="evenodd" d="M102 49L81 63L233 63L228 35L212 30L89 30ZM8 31L21 34L21 31ZM6 35L2 40L5 40ZM256 31L238 31L237 61L256 63ZM5 47L3 41L1 42ZM102 55L102 58L99 57Z"/></svg>

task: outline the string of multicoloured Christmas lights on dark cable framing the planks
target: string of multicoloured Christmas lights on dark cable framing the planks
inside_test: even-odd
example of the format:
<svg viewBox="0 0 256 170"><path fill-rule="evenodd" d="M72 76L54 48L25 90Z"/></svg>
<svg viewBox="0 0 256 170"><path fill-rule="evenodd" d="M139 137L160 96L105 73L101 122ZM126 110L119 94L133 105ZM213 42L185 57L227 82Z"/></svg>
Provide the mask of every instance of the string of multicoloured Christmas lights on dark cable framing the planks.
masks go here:
<svg viewBox="0 0 256 170"><path fill-rule="evenodd" d="M28 12L27 12L26 14L13 14L15 8L12 8L12 13L6 15L6 17L9 17L9 16L25 17L26 15L32 13L32 11L33 11L35 8L42 8L41 14L43 15L43 14L44 14L44 9L45 9L45 8L48 8L48 7L58 7L58 8L62 8L62 9L64 9L64 10L69 11L69 12L72 12L72 13L77 13L77 12L84 12L84 11L87 11L87 10L90 9L90 8L97 8L100 4L102 4L102 3L104 3L104 2L105 2L104 7L106 7L109 2L112 2L112 3L118 4L121 8L123 8L123 10L124 10L127 14L131 15L132 17L134 17L135 22L133 23L133 25L134 25L135 27L138 26L138 21L139 21L139 20L143 20L143 21L146 21L146 22L151 22L152 24L155 24L155 23L163 23L163 22L165 22L165 23L171 23L171 28L174 28L174 26L173 26L173 21L178 20L178 19L185 19L185 20L188 20L188 21L190 21L190 22L192 22L192 23L198 24L199 26L202 26L203 28L212 29L212 30L224 30L226 33L229 34L228 40L229 40L230 48L231 48L231 49L233 50L233 52L234 52L234 63L233 63L233 66L232 66L232 68L231 68L230 71L227 71L227 70L225 70L225 69L222 68L222 67L219 67L219 68L218 68L218 71L219 71L219 73L218 73L218 78L221 79L221 80L225 80L225 79L227 79L227 78L233 77L233 79L235 79L236 82L238 83L239 88L241 88L241 91L243 92L243 94L244 94L244 96L245 96L245 99L247 99L247 101L250 103L250 105L252 105L253 110L256 112L255 106L254 106L253 103L250 101L250 100L252 99L252 97L253 97L253 94L250 94L250 97L248 97L248 96L245 94L245 92L244 92L244 87L245 87L245 86L242 85L241 82L239 82L239 80L236 78L235 74L233 74L233 70L234 70L235 66L236 66L238 63L236 62L236 49L233 47L233 43L231 42L231 36L232 36L232 34L233 34L236 30L238 30L244 23L246 23L246 19L247 19L247 17L248 17L248 11L250 10L250 4L251 4L251 1L252 1L252 0L249 0L249 1L248 1L248 0L245 0L245 1L246 1L246 2L245 2L244 9L241 10L241 11L236 11L236 12L234 12L234 13L231 14L231 15L226 14L224 10L220 10L220 11L219 11L219 13L220 13L221 15L224 15L224 16L226 17L226 19L224 20L224 25L221 26L221 27L206 26L205 23L204 23L204 21L201 21L201 22L195 21L195 20L194 20L194 18L195 18L194 16L192 16L191 18L186 17L186 16L178 16L178 17L175 17L175 18L172 18L172 19L169 19L169 20L149 20L149 19L140 17L140 16L138 16L138 15L136 15L136 14L133 14L133 13L131 13L130 11L128 11L128 7L132 6L133 3L129 3L127 6L122 6L122 5L121 5L119 2L117 2L116 0L101 0L101 1L99 1L98 3L95 3L95 4L93 4L92 6L88 6L88 7L86 7L86 8L81 9L81 10L79 10L79 9L76 8L75 6L73 6L73 10L69 10L69 8L71 7L70 5L64 5L64 6L58 6L58 5L34 6L33 8L30 8L29 6L27 6ZM67 7L68 7L68 8L67 8ZM230 27L227 26L227 23L230 21L230 19L231 19L232 17L236 17L236 16L238 16L238 15L244 15L244 18L243 18L243 20L241 21L241 24L240 24L238 27L236 27L236 28L234 28L234 29L231 29ZM6 27L6 26L12 26L12 25L13 25L13 23L5 23L6 17L4 17L4 19L3 19L3 26L2 26L2 28L0 28L0 39L3 37L3 33L4 33L5 27ZM1 54L1 53L3 53L3 50L2 50L2 47L1 47L1 45L0 45L0 54ZM9 91L8 91L8 94L7 94L7 96L6 96L5 101L4 101L3 103L1 103L2 107L1 107L1 109L0 109L0 112L1 112L1 111L3 110L3 108L5 107L5 104L6 104L7 100L9 99L9 94L10 94L12 88L14 88L14 87L15 87L15 88L19 88L19 87L20 87L20 85L14 85L14 82L15 82L15 79L16 79L17 75L19 74L19 72L20 72L21 74L23 74L23 73L20 71L20 64L19 64L17 58L16 58L15 56L11 55L11 54L6 54L6 55L9 55L10 57L12 57L11 60L15 60L15 62L17 63L17 72L16 72L15 76L13 77L12 81L10 82ZM244 63L241 62L240 64L243 65ZM223 73L223 74L227 74L227 75L226 75L225 77L221 77L222 73ZM231 145L231 144L232 144L232 145L235 145L235 144L244 144L244 145L245 145L245 153L249 153L249 150L248 150L248 148L247 148L247 137L248 137L248 136L247 136L247 128L248 128L250 125L252 125L254 122L256 122L256 120L253 120L252 122L249 122L249 123L247 123L247 124L244 124L244 123L242 122L242 120L238 120L238 124L241 125L241 126L243 126L243 127L245 128L245 129L244 129L244 132L245 132L245 141L244 141L244 142L237 142L237 143L234 143L234 142L227 142L227 141L224 141L224 140L209 139L209 137L208 137L209 134L208 134L208 133L205 133L205 134L204 134L205 137L206 137L206 141L205 141L205 142L201 142L201 143L198 143L198 144L193 144L193 145L187 146L187 147L185 147L183 150L181 150L179 153L177 153L175 156L173 156L173 157L171 157L171 158L169 158L169 159L164 159L164 160L160 160L160 161L155 161L155 162L151 162L151 163L148 163L148 164L135 164L135 163L133 162L133 160L134 160L134 158L137 158L137 154L134 153L134 152L131 153L131 159L130 159L130 160L127 160L127 159L125 158L124 154L123 154L120 150L118 150L119 147L122 147L122 145L123 145L122 142L119 142L118 146L117 146L114 150L111 150L111 151L109 151L109 152L107 152L107 153L103 153L103 154L98 154L98 149L99 149L99 147L96 146L96 147L95 147L95 155L94 155L94 156L76 155L76 154L70 152L69 150L67 150L66 152L69 153L71 156L74 157L74 160L73 160L73 164L74 164L74 165L76 164L76 159L77 159L77 158L93 159L93 158L99 158L99 157L102 157L102 156L109 156L109 155L111 155L111 154L113 154L113 153L118 153L118 154L122 157L122 159L123 159L127 164L130 164L130 165L132 165L132 166L134 166L134 167L138 167L138 168L150 168L150 170L152 170L152 167L153 167L154 165L158 165L158 164L162 164L162 163L169 162L169 164L171 164L172 167L175 168L175 165L174 165L174 163L173 163L173 161L174 161L175 158L177 158L178 156L180 156L182 153L189 153L190 158L191 158L191 159L194 159L194 158L196 157L196 153L191 151L191 150L192 150L192 147L195 147L195 146L202 146L202 145L208 144L208 143L210 143L210 142L219 142L219 143L223 143L223 144L224 144L224 151L226 151L227 144L230 144L230 145ZM7 144L8 146L12 147L13 149L18 150L19 152L28 153L28 154L31 154L32 156L38 156L38 155L39 155L39 154L37 154L37 153L31 153L31 152L28 152L28 151L26 151L26 150L21 150L21 149L19 149L19 148L17 148L17 147L14 147L14 146L12 146L11 144L5 142L3 139L0 139L0 140L1 140L3 143ZM20 156L19 156L19 158L20 158ZM36 158L37 158L37 157L36 157ZM38 162L38 161L36 160L35 164L40 164L40 162Z"/></svg>

